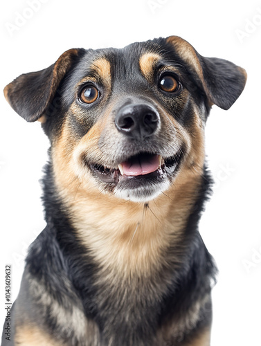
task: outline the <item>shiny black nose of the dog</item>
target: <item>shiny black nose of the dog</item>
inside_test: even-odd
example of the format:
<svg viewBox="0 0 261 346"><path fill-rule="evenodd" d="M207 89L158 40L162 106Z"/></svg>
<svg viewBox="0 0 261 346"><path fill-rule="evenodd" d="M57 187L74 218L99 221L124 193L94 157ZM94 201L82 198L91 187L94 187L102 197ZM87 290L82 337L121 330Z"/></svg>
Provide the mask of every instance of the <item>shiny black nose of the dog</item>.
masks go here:
<svg viewBox="0 0 261 346"><path fill-rule="evenodd" d="M159 113L147 104L128 104L115 118L118 131L136 139L154 134L159 122Z"/></svg>

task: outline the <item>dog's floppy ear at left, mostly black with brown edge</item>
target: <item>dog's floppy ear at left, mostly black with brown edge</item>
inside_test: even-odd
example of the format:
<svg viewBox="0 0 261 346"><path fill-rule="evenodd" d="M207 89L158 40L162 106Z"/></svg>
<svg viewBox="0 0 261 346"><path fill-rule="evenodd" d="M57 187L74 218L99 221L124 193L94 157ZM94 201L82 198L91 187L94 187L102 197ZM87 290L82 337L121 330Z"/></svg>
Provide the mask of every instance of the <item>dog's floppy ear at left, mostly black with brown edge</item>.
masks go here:
<svg viewBox="0 0 261 346"><path fill-rule="evenodd" d="M47 69L25 73L8 84L3 93L12 109L29 122L38 120L53 100L57 87L71 69L79 51L70 49Z"/></svg>

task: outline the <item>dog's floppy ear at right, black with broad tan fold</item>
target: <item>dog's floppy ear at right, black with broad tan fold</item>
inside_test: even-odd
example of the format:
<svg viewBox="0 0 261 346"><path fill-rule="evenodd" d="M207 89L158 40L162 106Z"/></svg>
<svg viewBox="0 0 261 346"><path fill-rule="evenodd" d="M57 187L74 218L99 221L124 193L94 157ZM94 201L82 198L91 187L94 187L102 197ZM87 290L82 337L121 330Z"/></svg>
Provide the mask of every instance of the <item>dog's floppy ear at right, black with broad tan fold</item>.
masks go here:
<svg viewBox="0 0 261 346"><path fill-rule="evenodd" d="M222 109L229 109L242 93L246 84L246 71L227 60L217 57L202 57L195 48L178 36L166 41L194 76L208 100Z"/></svg>

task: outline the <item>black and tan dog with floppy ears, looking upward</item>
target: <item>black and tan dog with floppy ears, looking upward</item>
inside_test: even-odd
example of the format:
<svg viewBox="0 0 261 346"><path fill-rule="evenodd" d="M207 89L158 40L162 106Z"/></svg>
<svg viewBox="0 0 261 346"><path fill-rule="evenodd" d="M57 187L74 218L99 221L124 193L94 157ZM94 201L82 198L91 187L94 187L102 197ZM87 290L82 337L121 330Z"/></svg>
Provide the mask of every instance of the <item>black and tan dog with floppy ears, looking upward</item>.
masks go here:
<svg viewBox="0 0 261 346"><path fill-rule="evenodd" d="M181 37L70 49L4 89L51 142L46 228L12 305L19 346L209 346L217 268L198 224L204 127L246 83Z"/></svg>

